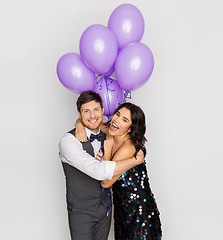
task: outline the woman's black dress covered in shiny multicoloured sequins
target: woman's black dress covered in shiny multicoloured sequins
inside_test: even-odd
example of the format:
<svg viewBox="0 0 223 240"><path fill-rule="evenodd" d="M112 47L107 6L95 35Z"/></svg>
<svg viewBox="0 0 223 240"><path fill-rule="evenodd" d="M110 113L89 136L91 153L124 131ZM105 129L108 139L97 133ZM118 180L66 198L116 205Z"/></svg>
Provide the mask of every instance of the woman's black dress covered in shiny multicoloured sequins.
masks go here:
<svg viewBox="0 0 223 240"><path fill-rule="evenodd" d="M115 240L161 239L159 211L145 163L124 172L112 191Z"/></svg>

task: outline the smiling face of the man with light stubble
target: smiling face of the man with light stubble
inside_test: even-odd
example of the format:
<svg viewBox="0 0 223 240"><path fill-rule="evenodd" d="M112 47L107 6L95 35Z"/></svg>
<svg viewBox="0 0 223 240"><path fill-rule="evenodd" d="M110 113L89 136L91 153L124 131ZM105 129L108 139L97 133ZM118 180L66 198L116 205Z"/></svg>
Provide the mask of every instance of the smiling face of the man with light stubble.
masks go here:
<svg viewBox="0 0 223 240"><path fill-rule="evenodd" d="M103 113L104 109L101 108L100 103L93 100L81 106L78 116L85 127L97 133L103 119Z"/></svg>

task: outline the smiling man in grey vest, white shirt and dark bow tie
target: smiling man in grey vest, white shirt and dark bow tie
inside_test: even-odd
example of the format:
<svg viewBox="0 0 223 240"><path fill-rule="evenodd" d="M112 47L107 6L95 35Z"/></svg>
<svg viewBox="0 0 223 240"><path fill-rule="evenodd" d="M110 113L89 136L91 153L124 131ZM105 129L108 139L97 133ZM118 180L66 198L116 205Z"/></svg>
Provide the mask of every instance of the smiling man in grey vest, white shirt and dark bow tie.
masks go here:
<svg viewBox="0 0 223 240"><path fill-rule="evenodd" d="M72 240L106 240L111 224L111 196L100 180L111 179L143 162L142 154L124 161L95 159L105 135L100 132L103 105L99 94L86 91L77 99L78 116L89 141L79 142L75 129L60 141L60 158L66 176L67 209ZM96 135L95 135L96 134ZM127 167L128 166L128 167Z"/></svg>

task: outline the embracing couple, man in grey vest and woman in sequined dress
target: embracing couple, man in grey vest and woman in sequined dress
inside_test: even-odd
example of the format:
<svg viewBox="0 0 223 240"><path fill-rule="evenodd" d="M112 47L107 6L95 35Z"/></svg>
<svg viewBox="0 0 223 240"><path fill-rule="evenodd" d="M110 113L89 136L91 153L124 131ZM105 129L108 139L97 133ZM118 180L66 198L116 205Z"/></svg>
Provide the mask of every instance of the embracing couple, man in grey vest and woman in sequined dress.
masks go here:
<svg viewBox="0 0 223 240"><path fill-rule="evenodd" d="M71 239L107 240L111 192L116 240L161 239L159 211L144 162L143 111L123 103L108 123L102 123L99 94L83 92L76 104L76 128L59 144Z"/></svg>

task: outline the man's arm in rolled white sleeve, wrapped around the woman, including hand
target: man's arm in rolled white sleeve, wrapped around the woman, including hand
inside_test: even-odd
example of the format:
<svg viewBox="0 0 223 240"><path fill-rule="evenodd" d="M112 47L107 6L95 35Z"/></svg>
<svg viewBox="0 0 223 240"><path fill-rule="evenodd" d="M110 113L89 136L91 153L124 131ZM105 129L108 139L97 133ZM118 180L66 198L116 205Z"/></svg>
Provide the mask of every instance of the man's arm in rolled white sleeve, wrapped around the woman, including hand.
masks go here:
<svg viewBox="0 0 223 240"><path fill-rule="evenodd" d="M137 154L137 159L130 158L118 163L98 161L83 150L81 143L70 133L61 139L59 149L61 161L97 180L111 179L144 161L144 156L140 153Z"/></svg>

